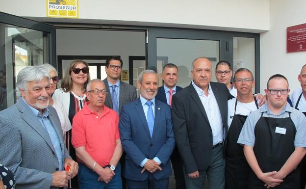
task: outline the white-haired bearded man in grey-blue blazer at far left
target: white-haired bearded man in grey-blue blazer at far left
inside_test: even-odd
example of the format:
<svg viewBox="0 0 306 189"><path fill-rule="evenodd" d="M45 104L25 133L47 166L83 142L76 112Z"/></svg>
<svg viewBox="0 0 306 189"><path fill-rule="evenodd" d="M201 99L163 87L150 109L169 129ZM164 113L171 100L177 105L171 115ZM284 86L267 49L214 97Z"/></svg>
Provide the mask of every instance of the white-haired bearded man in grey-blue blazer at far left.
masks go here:
<svg viewBox="0 0 306 189"><path fill-rule="evenodd" d="M22 98L0 111L0 162L14 173L16 189L66 187L78 165L64 145L55 109L48 106L49 73L28 66L19 72L17 87Z"/></svg>

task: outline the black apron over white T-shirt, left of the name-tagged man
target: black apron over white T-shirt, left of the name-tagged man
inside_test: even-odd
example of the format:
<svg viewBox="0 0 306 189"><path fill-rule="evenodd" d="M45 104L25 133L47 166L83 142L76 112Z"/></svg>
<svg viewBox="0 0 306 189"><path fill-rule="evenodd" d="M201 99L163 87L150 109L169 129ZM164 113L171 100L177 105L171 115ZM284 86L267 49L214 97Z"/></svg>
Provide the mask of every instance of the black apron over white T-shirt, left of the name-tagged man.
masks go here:
<svg viewBox="0 0 306 189"><path fill-rule="evenodd" d="M258 109L257 101L255 98L254 100ZM246 189L248 187L248 178L251 171L243 153L243 146L237 143L242 126L248 116L236 115L236 107L237 100L233 119L227 135L225 165L226 189Z"/></svg>

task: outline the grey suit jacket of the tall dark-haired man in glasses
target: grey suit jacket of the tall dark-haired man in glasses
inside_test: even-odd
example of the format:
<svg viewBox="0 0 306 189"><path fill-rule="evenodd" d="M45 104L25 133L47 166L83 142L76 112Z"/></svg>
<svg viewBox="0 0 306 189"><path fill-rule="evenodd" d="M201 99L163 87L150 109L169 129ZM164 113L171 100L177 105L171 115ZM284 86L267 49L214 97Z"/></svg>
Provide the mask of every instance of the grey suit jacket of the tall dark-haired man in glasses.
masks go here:
<svg viewBox="0 0 306 189"><path fill-rule="evenodd" d="M105 88L108 90L108 94L105 99L105 106L108 108L113 108L113 102L111 100L110 89L108 86L107 78L103 80ZM119 115L121 112L122 105L125 105L133 100L137 99L136 87L130 85L126 82L120 81L120 91L119 91Z"/></svg>

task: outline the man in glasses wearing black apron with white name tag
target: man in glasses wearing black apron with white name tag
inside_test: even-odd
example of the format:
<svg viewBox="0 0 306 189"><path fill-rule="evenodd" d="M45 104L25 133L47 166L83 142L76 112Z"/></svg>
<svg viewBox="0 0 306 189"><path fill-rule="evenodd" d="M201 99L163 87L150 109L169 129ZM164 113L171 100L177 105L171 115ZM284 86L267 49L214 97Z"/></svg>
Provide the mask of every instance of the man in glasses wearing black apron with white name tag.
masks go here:
<svg viewBox="0 0 306 189"><path fill-rule="evenodd" d="M287 79L269 78L267 103L250 113L238 138L253 171L249 189L300 189L299 163L306 154L306 117L287 103Z"/></svg>

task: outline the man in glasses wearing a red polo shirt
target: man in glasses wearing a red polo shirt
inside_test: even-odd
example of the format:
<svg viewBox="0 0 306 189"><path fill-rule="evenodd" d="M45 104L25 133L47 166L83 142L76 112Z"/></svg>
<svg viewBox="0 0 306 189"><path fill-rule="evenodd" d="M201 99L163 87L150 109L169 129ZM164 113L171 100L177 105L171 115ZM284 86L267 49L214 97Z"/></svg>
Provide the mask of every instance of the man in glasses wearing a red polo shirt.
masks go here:
<svg viewBox="0 0 306 189"><path fill-rule="evenodd" d="M89 102L73 119L71 139L79 162L79 189L122 189L118 113L104 105L108 91L103 81L89 81L86 90Z"/></svg>

